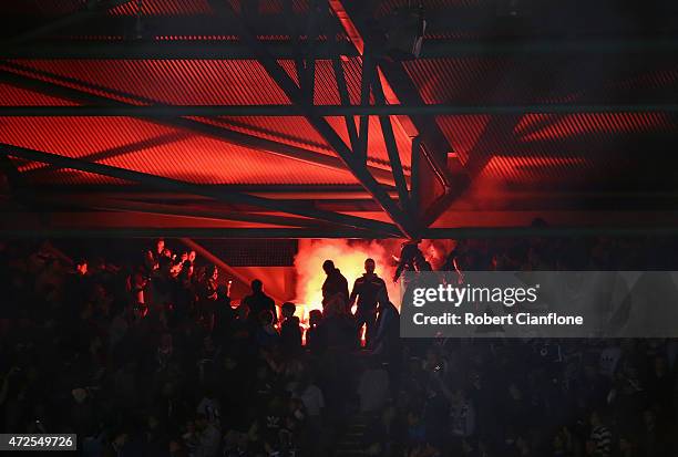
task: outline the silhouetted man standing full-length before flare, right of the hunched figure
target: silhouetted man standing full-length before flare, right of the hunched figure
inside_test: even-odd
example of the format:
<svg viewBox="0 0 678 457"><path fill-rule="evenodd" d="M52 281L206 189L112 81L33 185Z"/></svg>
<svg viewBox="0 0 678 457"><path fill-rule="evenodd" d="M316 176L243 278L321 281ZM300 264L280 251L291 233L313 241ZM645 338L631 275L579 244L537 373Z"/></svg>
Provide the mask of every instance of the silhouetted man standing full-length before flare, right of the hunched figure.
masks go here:
<svg viewBox="0 0 678 457"><path fill-rule="evenodd" d="M364 261L364 273L356 280L353 283L353 291L349 299L349 310L358 300L358 308L356 309L356 324L358 325L358 332L362 329L362 325L367 325L366 341L369 342L372 332L374 331L374 323L377 321L377 302L379 301L380 293L386 291L386 282L374 273L374 260L367 259ZM388 293L386 294L388 300Z"/></svg>

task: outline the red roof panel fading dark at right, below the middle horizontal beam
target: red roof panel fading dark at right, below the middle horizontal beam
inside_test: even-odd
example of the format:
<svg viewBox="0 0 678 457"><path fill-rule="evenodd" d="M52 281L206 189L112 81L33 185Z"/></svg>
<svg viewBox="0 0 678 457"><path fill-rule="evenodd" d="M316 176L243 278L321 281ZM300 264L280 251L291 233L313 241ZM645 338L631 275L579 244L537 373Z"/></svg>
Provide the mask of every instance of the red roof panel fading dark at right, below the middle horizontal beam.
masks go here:
<svg viewBox="0 0 678 457"><path fill-rule="evenodd" d="M678 118L667 113L530 114L497 120L436 118L462 164L479 178L581 180L594 169L609 170L613 162L628 156L630 150L620 150L619 145L647 138L649 147L657 135L678 135ZM615 150L619 154L610 155Z"/></svg>

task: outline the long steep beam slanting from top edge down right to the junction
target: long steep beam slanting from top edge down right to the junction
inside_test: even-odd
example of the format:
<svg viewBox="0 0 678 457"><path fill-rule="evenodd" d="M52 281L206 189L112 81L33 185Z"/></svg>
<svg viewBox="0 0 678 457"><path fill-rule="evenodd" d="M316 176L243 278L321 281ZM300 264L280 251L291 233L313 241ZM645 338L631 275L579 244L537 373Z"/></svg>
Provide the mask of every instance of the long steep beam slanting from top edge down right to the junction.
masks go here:
<svg viewBox="0 0 678 457"><path fill-rule="evenodd" d="M212 0L210 4L215 10L225 17L237 18L236 12L228 2L217 2ZM288 98L297 104L304 105L304 95L294 80L287 72L277 63L277 61L267 52L265 45L250 32L250 30L242 22L238 23L237 32L242 40L247 42L253 52L257 55L257 60L264 66L270 77L280 86L287 94ZM369 173L364 164L360 163L352 150L343 143L343 139L335 132L329 123L320 115L314 112L312 106L309 106L306 118L314 128L325 138L325 141L337 152L339 157L345 162L347 167L353 173L356 178L364 186L364 188L374 197L384 211L391 217L393 222L408 237L413 235L413 227L408 216L402 211L391 197L386 193L374 177Z"/></svg>

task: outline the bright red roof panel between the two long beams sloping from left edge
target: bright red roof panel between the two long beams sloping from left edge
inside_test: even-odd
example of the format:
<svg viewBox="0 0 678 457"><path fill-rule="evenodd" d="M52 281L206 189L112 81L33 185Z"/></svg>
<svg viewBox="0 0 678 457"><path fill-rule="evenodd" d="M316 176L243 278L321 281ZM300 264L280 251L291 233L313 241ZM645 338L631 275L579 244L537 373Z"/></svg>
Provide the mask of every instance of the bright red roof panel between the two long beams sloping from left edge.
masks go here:
<svg viewBox="0 0 678 457"><path fill-rule="evenodd" d="M21 147L197 184L358 184L348 170L315 166L126 117L12 117L0 124L0 136L3 142ZM58 183L60 178L59 173L52 172L31 175L40 177L41 183Z"/></svg>

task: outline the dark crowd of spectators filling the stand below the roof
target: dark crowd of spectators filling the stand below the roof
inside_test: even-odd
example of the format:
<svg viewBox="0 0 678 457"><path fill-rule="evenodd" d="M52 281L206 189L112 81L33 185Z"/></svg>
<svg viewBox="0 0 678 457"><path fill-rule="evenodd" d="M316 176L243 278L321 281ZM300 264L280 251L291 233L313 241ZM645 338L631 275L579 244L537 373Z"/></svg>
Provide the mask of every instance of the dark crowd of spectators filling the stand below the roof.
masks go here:
<svg viewBox="0 0 678 457"><path fill-rule="evenodd" d="M677 246L468 240L443 268L676 270ZM678 456L678 342L401 340L364 267L349 284L318 266L306 330L260 281L232 307L215 267L162 240L124 266L0 242L1 429L75 433L88 456ZM403 248L399 273L430 268Z"/></svg>

